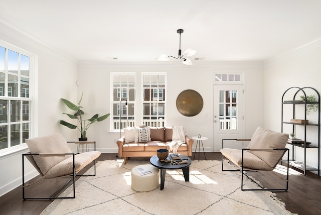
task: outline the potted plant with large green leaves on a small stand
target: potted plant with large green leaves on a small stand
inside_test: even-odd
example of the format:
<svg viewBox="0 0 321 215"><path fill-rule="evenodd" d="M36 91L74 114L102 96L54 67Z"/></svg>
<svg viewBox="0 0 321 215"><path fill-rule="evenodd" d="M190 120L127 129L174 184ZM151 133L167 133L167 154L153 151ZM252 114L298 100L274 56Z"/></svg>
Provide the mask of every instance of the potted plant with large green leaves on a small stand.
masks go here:
<svg viewBox="0 0 321 215"><path fill-rule="evenodd" d="M67 114L67 113L63 113L66 114L70 119L77 119L80 126L75 126L73 124L70 124L64 120L59 121L59 123L63 126L66 126L70 129L78 129L81 133L81 138L79 138L79 141L86 141L87 137L86 137L86 132L89 129L89 127L95 123L95 122L100 122L103 121L105 119L107 119L109 117L110 114L106 114L104 116L98 117L98 114L95 114L94 116L92 116L90 119L88 120L82 120L82 115L84 115L84 112L81 110L82 106L80 106L80 102L82 100L82 96L83 96L84 92L82 92L81 94L81 98L78 101L78 105L70 102L69 100L65 99L65 98L61 98L61 100L69 107L69 109L75 111L75 114Z"/></svg>

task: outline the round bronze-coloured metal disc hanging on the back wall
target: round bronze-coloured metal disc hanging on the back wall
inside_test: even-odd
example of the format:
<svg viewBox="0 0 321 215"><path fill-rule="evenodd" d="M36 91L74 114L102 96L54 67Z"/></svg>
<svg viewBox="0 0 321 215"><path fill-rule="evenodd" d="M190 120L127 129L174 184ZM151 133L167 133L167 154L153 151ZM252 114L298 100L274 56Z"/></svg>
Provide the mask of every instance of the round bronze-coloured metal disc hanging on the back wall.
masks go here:
<svg viewBox="0 0 321 215"><path fill-rule="evenodd" d="M177 110L186 117L198 115L203 109L203 98L193 89L184 90L177 96Z"/></svg>

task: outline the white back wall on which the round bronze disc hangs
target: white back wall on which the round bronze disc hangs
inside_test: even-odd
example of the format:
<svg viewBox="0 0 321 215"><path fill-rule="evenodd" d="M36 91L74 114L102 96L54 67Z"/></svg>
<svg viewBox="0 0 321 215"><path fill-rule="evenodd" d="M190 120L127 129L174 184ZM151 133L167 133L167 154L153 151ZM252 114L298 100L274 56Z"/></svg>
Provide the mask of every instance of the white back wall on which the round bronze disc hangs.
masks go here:
<svg viewBox="0 0 321 215"><path fill-rule="evenodd" d="M231 69L245 71L245 137L252 137L258 126L263 126L263 64L260 62L202 62L193 66L178 62L161 64L154 62L80 62L78 64L78 95L84 91L85 113L93 115L110 113L110 72L136 72L137 88L141 85L142 72L167 73L167 126L184 125L187 134L208 137L203 141L207 152L213 151L213 74ZM177 96L186 89L194 89L203 97L203 110L194 117L181 115L176 107ZM255 102L253 102L255 98ZM137 99L140 99L137 91ZM139 104L139 100L138 104ZM95 104L95 105L93 105ZM116 140L119 133L109 132L109 121L93 124L88 138L96 141L102 152L118 152ZM245 138L244 137L244 138ZM196 145L194 145L195 147Z"/></svg>

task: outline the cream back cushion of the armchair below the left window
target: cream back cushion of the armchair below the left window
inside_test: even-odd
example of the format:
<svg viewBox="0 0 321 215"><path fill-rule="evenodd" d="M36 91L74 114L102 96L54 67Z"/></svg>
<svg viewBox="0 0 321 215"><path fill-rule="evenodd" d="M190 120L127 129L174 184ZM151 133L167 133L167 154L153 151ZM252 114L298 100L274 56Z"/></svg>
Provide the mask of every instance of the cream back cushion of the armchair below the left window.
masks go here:
<svg viewBox="0 0 321 215"><path fill-rule="evenodd" d="M46 137L37 137L32 139L26 139L26 144L29 147L30 153L32 154L42 154L42 153L72 153L67 141L61 134L53 134ZM49 169L51 169L56 164L65 160L67 156L54 156L54 157L42 157L39 155L33 155L36 164L39 169L45 175Z"/></svg>

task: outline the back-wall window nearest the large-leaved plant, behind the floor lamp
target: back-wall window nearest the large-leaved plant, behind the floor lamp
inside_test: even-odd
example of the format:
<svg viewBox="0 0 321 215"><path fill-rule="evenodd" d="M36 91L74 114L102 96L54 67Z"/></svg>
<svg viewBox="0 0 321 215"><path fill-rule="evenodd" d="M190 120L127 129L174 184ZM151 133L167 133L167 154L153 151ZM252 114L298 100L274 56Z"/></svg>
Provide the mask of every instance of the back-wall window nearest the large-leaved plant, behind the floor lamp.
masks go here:
<svg viewBox="0 0 321 215"><path fill-rule="evenodd" d="M136 74L111 73L112 126L113 130L135 125ZM127 102L127 105L126 105ZM121 118L121 119L120 119Z"/></svg>

